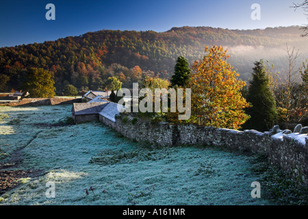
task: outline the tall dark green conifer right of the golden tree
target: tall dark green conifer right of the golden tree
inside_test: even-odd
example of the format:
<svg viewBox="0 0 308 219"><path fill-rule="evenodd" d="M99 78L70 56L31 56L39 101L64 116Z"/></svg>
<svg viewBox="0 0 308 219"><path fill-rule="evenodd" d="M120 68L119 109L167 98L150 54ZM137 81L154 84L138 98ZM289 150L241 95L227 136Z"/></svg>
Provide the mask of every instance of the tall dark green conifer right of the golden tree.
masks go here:
<svg viewBox="0 0 308 219"><path fill-rule="evenodd" d="M252 104L246 113L251 116L243 125L244 129L268 131L277 120L276 101L270 87L270 76L262 60L255 62L253 79L246 95L246 101Z"/></svg>

